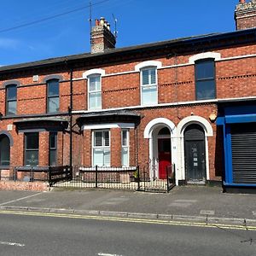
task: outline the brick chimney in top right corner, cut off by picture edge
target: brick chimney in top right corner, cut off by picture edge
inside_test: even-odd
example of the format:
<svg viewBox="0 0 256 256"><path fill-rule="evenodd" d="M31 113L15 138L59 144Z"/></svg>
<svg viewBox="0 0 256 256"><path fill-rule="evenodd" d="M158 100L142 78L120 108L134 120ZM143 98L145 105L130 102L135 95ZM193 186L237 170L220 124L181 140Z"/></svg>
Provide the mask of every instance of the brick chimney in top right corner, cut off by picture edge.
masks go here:
<svg viewBox="0 0 256 256"><path fill-rule="evenodd" d="M235 11L236 30L256 27L256 0L239 0Z"/></svg>

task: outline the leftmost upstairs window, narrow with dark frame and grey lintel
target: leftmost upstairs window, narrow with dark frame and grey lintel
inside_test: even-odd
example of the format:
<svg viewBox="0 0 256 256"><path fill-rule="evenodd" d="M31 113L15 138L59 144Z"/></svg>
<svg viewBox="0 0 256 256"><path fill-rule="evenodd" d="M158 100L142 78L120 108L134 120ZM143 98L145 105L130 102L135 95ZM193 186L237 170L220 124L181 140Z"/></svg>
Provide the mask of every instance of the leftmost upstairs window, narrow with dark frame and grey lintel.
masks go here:
<svg viewBox="0 0 256 256"><path fill-rule="evenodd" d="M17 113L17 85L6 86L6 115Z"/></svg>

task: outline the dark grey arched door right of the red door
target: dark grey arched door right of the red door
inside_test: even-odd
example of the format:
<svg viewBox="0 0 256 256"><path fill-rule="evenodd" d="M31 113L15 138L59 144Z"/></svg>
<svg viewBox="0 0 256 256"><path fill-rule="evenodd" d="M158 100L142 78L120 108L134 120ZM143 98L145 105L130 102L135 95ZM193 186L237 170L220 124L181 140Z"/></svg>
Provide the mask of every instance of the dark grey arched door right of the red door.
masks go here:
<svg viewBox="0 0 256 256"><path fill-rule="evenodd" d="M185 174L187 182L205 183L206 141L201 125L192 124L184 131Z"/></svg>

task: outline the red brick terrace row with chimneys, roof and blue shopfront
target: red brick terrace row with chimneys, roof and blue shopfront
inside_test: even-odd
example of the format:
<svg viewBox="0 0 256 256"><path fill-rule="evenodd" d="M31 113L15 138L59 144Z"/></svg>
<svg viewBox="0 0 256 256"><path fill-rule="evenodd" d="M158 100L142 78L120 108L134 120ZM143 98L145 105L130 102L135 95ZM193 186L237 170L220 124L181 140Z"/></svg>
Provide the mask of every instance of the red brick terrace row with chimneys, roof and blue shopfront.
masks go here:
<svg viewBox="0 0 256 256"><path fill-rule="evenodd" d="M235 20L235 32L115 49L101 19L90 53L0 67L2 175L150 163L162 178L175 164L177 185L256 186L256 1Z"/></svg>

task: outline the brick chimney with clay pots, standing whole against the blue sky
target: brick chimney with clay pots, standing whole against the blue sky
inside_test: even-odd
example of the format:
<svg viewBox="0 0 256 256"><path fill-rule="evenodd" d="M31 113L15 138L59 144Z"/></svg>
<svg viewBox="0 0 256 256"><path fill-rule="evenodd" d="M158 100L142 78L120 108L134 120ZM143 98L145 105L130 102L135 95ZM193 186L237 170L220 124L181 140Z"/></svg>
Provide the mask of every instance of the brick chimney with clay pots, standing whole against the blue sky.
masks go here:
<svg viewBox="0 0 256 256"><path fill-rule="evenodd" d="M95 26L90 32L90 52L101 53L106 49L115 47L115 37L110 31L110 24L103 17L100 20L95 20Z"/></svg>

